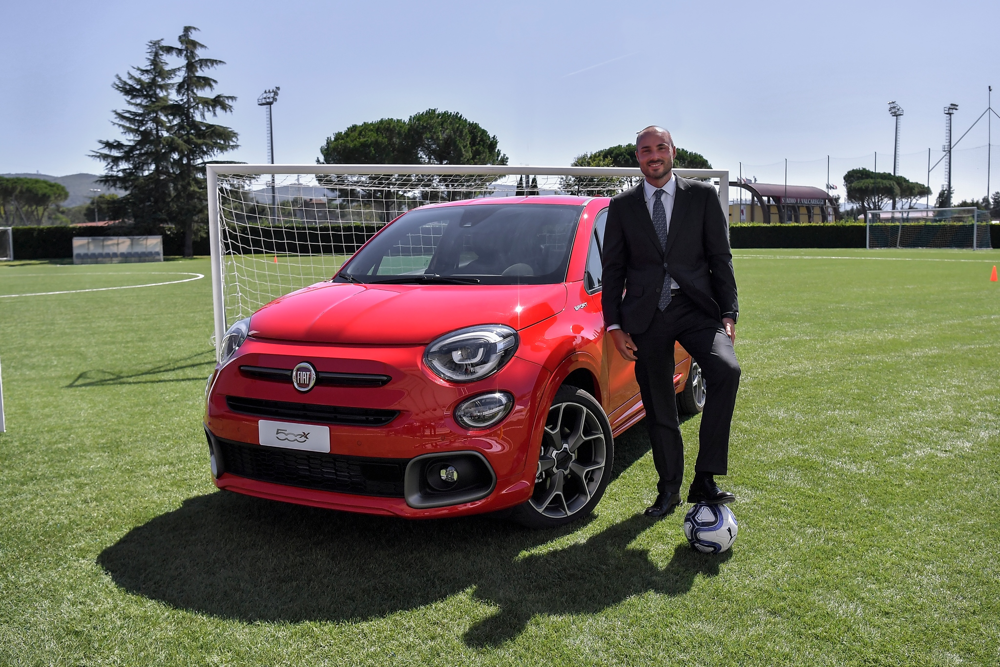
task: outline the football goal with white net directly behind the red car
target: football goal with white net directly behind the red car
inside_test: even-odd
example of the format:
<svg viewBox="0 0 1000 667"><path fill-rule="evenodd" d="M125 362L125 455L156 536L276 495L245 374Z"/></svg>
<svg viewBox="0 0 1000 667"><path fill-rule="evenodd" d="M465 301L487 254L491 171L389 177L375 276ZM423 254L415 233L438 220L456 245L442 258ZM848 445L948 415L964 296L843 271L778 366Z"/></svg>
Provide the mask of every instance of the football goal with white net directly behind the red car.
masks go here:
<svg viewBox="0 0 1000 667"><path fill-rule="evenodd" d="M728 210L729 172L711 180ZM215 340L264 304L331 278L386 223L426 204L524 195L612 196L638 169L505 165L209 164Z"/></svg>

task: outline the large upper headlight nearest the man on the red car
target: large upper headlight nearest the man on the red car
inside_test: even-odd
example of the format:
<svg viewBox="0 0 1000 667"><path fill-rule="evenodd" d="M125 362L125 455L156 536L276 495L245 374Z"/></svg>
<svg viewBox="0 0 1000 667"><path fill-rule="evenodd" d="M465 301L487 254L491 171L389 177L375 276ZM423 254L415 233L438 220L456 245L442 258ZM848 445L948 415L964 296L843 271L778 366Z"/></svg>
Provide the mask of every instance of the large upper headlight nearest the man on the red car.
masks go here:
<svg viewBox="0 0 1000 667"><path fill-rule="evenodd" d="M496 373L517 351L517 332L483 324L447 333L424 352L424 363L449 382L473 382Z"/></svg>

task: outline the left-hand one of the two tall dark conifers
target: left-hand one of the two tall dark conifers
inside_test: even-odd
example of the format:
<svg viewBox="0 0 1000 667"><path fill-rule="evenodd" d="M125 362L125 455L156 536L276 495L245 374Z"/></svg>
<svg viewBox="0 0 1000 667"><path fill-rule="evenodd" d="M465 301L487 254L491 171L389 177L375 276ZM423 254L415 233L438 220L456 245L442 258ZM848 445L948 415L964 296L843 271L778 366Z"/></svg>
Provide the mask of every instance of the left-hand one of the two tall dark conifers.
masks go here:
<svg viewBox="0 0 1000 667"><path fill-rule="evenodd" d="M165 48L162 39L149 42L146 66L115 76L112 87L128 108L112 122L126 139L100 141L102 150L91 153L107 170L98 182L128 192L122 203L143 232L158 232L175 217L169 107L177 68L167 66Z"/></svg>

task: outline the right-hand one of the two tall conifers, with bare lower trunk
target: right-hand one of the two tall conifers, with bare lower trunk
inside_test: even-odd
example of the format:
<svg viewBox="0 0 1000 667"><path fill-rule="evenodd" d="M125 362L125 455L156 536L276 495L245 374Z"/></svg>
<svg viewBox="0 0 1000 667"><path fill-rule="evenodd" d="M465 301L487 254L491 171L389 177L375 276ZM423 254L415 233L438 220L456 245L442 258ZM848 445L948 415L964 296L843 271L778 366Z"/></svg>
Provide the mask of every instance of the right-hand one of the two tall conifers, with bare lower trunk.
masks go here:
<svg viewBox="0 0 1000 667"><path fill-rule="evenodd" d="M220 112L232 111L236 98L232 95L206 97L202 94L213 91L218 83L204 72L225 63L199 55L198 52L206 47L191 36L197 31L194 26L184 26L177 38L180 46L164 47L167 54L184 61L178 68L181 78L175 88L176 97L170 105L170 115L173 119L172 144L177 159L174 209L177 222L184 226L185 257L194 254L195 224L202 224L208 219L205 162L239 146L236 143L238 135L232 128L206 120L209 114L215 117Z"/></svg>

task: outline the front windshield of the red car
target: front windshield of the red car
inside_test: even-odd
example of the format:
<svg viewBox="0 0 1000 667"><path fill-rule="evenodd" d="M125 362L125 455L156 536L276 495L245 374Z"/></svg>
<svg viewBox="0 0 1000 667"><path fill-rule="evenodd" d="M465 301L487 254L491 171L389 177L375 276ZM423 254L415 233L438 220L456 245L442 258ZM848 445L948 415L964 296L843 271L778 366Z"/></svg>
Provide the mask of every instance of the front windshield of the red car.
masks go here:
<svg viewBox="0 0 1000 667"><path fill-rule="evenodd" d="M582 206L478 204L410 211L365 246L338 282L428 280L545 285L566 279ZM346 275L345 275L346 274Z"/></svg>

